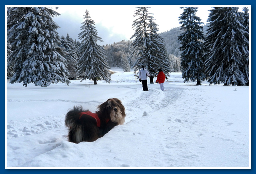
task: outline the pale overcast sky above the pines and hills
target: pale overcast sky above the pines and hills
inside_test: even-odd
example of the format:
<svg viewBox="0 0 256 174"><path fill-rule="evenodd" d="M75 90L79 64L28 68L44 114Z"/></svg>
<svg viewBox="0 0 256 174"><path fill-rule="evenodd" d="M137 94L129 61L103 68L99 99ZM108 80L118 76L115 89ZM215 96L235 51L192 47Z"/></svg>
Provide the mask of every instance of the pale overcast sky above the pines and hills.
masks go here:
<svg viewBox="0 0 256 174"><path fill-rule="evenodd" d="M139 5L61 5L56 10L61 15L54 17L53 20L60 26L57 30L60 36L66 37L68 33L74 40L79 40L80 27L84 22L85 11L88 10L91 19L95 22L98 36L104 41L99 44L113 44L113 42L129 40L134 34L132 24L136 19L134 12L137 6ZM193 6L198 7L196 16L200 17L204 24L209 15L208 10L212 9L212 6ZM239 5L239 11L242 11L244 6L249 7L250 13L248 5ZM178 17L181 16L183 9L180 9L180 5L147 5L146 7L151 7L148 8L148 12L153 14L159 32L181 26Z"/></svg>

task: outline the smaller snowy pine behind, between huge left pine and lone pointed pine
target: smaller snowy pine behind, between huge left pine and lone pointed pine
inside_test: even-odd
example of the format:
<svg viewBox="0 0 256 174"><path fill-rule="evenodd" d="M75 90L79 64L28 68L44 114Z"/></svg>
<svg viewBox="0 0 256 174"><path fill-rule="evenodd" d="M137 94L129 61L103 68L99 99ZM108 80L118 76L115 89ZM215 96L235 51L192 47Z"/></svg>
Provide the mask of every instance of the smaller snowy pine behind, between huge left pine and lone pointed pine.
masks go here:
<svg viewBox="0 0 256 174"><path fill-rule="evenodd" d="M77 60L77 48L75 46L74 40L70 38L70 36L67 34L66 38L61 39L61 47L65 49L67 52L66 56L64 56L67 60L67 70L70 74L69 79L73 80L76 78L77 73L76 70L78 68Z"/></svg>

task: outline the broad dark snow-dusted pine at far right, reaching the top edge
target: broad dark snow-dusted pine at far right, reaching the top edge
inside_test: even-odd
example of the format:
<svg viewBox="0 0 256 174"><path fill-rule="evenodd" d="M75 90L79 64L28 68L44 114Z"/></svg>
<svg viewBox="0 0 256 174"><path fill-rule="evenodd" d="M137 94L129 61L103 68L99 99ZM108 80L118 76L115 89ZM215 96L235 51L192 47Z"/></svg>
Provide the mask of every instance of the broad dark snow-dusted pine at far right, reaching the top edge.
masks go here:
<svg viewBox="0 0 256 174"><path fill-rule="evenodd" d="M206 74L210 84L246 85L248 40L238 7L214 7L210 10L206 40ZM247 69L247 68L246 68Z"/></svg>

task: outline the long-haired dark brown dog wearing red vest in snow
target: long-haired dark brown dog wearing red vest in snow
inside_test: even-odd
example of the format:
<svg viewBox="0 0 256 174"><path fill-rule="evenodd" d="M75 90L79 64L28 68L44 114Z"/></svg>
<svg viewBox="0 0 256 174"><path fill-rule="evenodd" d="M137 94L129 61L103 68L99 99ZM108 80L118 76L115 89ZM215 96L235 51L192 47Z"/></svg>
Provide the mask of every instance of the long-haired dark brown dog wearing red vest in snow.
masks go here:
<svg viewBox="0 0 256 174"><path fill-rule="evenodd" d="M100 104L96 113L83 110L82 106L74 106L65 117L68 141L93 142L108 133L114 126L124 124L124 118L125 108L117 98L110 98Z"/></svg>

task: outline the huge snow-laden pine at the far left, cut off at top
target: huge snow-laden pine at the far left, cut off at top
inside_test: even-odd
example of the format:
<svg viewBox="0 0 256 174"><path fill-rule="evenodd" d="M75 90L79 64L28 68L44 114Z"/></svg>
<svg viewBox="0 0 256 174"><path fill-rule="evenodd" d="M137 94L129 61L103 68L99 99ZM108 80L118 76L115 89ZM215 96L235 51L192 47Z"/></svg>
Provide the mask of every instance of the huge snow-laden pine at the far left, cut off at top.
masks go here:
<svg viewBox="0 0 256 174"><path fill-rule="evenodd" d="M14 64L10 83L24 86L49 86L70 83L66 60L58 52L59 26L52 20L57 12L46 7L11 7L7 10L7 40L13 52L8 65Z"/></svg>

